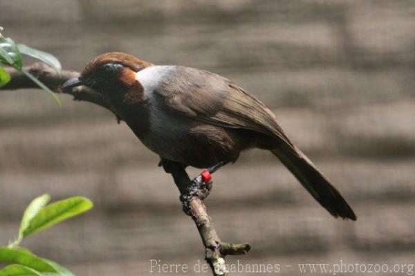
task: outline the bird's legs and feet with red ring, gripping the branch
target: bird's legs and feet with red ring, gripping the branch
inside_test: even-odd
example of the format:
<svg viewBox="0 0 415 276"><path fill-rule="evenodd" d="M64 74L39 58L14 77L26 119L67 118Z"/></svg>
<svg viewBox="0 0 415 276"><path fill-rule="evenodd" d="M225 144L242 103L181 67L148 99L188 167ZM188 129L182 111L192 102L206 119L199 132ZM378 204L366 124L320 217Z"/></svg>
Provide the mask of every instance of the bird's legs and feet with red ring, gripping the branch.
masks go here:
<svg viewBox="0 0 415 276"><path fill-rule="evenodd" d="M185 170L185 165L177 163L174 161L166 160L164 158L160 159L158 166L163 166L165 172L172 174L174 178L174 183L181 192L180 199L183 203L183 211L187 214L189 213L189 202L193 196L197 196L199 199L204 200L210 194L212 190L212 175L219 168L226 165L228 162L221 161L216 165L205 169L199 176L196 176L192 181ZM187 183L187 185L183 185Z"/></svg>

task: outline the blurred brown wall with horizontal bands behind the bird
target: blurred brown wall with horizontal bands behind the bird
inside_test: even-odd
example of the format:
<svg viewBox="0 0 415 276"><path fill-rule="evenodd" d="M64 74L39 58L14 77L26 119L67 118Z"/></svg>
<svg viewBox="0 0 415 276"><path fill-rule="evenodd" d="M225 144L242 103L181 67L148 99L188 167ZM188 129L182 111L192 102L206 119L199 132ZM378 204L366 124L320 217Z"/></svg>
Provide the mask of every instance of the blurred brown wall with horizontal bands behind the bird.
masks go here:
<svg viewBox="0 0 415 276"><path fill-rule="evenodd" d="M274 156L248 151L215 174L206 201L223 241L252 245L228 261L294 266L283 275L340 259L414 264L414 1L3 0L0 10L4 35L66 69L119 50L228 77L275 111L358 215L333 219ZM1 245L48 192L95 208L23 245L77 275L203 259L172 178L124 123L68 95L59 109L40 90L0 94Z"/></svg>

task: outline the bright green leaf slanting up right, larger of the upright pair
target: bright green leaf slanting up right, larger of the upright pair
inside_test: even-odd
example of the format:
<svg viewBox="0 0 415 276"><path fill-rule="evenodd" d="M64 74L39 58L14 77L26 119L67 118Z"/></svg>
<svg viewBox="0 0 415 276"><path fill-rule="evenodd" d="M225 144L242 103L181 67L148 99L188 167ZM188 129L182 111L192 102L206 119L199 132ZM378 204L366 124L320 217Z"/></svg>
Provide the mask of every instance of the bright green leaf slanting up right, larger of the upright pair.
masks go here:
<svg viewBox="0 0 415 276"><path fill-rule="evenodd" d="M24 237L90 210L93 203L82 196L74 196L46 205L29 223Z"/></svg>

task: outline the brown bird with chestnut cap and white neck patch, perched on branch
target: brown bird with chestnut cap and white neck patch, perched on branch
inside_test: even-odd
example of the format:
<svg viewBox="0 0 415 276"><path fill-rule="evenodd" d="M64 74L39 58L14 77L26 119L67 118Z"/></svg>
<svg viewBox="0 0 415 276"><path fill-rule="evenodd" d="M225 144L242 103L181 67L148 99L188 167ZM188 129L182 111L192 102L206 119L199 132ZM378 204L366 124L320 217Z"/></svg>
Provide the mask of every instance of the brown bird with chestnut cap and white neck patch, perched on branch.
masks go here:
<svg viewBox="0 0 415 276"><path fill-rule="evenodd" d="M241 151L271 151L333 217L356 221L340 192L299 150L265 104L234 82L121 52L92 59L62 89L88 86L148 149L183 167L234 163Z"/></svg>

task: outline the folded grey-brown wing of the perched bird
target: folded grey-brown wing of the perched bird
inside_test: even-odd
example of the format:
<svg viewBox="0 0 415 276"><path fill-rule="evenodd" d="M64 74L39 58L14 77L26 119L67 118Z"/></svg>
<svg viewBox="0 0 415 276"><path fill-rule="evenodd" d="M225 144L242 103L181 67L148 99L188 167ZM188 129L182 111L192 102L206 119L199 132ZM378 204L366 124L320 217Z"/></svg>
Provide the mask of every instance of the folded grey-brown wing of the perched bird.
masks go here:
<svg viewBox="0 0 415 276"><path fill-rule="evenodd" d="M272 111L220 75L176 66L158 83L154 93L165 109L181 116L257 131L292 145Z"/></svg>

